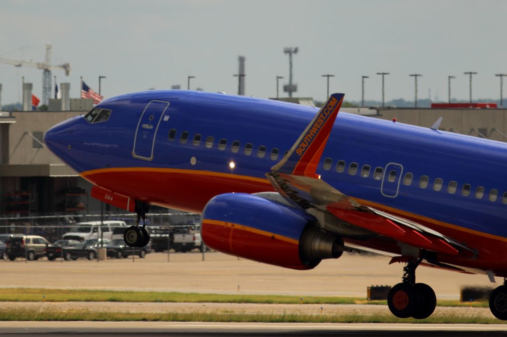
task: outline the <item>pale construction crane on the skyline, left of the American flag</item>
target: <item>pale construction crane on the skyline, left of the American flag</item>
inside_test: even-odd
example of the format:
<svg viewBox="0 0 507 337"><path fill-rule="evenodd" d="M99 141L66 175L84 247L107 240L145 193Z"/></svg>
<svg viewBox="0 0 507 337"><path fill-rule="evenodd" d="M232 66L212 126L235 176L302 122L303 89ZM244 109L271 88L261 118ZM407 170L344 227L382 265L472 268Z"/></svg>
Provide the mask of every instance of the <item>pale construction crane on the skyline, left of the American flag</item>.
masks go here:
<svg viewBox="0 0 507 337"><path fill-rule="evenodd" d="M51 70L65 70L65 76L70 75L70 63L51 65L51 45L46 45L45 62L33 62L25 60L12 60L0 57L0 63L12 64L15 67L33 67L42 69L42 104L49 104L51 97Z"/></svg>

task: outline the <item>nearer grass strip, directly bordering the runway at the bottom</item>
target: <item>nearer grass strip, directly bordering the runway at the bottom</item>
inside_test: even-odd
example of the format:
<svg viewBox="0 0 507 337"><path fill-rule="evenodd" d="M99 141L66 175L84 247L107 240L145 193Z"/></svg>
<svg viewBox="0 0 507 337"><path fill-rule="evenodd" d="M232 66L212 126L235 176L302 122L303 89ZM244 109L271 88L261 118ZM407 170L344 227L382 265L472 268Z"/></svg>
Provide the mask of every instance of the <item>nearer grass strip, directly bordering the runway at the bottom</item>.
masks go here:
<svg viewBox="0 0 507 337"><path fill-rule="evenodd" d="M59 309L3 309L0 321L150 321L150 322L262 322L262 323L432 323L432 324L502 324L493 318L433 315L423 320L400 319L389 314L307 315L240 313L132 313Z"/></svg>

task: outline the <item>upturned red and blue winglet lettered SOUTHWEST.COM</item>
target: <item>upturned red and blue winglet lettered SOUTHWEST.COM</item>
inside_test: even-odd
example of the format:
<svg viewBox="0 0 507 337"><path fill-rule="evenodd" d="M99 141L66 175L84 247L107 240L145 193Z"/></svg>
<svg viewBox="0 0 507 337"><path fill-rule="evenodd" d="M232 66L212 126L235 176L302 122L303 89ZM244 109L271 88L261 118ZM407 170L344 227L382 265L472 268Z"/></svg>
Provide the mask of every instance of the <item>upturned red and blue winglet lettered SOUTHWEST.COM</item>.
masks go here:
<svg viewBox="0 0 507 337"><path fill-rule="evenodd" d="M273 171L316 178L317 165L345 94L333 94Z"/></svg>

